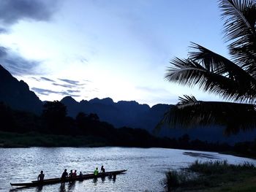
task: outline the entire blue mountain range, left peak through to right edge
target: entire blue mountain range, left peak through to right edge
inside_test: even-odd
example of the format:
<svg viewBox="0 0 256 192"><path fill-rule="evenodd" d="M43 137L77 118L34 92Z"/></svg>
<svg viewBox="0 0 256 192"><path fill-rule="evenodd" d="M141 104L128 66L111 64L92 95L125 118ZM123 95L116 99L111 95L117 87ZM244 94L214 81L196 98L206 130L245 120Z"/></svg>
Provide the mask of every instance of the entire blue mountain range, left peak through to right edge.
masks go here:
<svg viewBox="0 0 256 192"><path fill-rule="evenodd" d="M42 112L43 102L38 96L29 90L29 85L23 80L18 81L12 74L0 65L0 101L12 107L14 110L23 110L34 112L39 115ZM113 99L91 99L89 101L75 101L71 96L61 99L66 105L67 113L70 117L75 118L78 112L86 114L96 113L99 119L111 123L116 128L132 127L144 128L153 133L155 126L161 120L164 113L173 107L171 104L156 104L149 107L148 104L139 104L137 101L118 101ZM160 136L164 137L181 137L189 134L191 139L206 140L208 142L243 142L256 138L256 130L240 132L230 137L223 135L224 127L222 126L204 126L196 128L167 128L163 127L159 131Z"/></svg>

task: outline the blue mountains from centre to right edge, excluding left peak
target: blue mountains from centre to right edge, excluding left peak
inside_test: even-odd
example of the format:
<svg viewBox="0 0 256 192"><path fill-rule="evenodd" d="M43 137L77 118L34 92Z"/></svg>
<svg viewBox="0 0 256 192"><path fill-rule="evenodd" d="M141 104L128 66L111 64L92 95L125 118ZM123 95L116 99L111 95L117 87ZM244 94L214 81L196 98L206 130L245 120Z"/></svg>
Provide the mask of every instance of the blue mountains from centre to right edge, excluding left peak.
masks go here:
<svg viewBox="0 0 256 192"><path fill-rule="evenodd" d="M91 99L90 101L75 101L72 97L67 96L61 100L67 106L68 115L75 118L78 112L97 113L100 120L113 124L117 128L129 126L132 128L144 128L153 133L157 123L161 120L164 113L173 107L171 104L157 104L149 107L147 104L138 104L136 101L118 101L113 99ZM191 139L200 139L208 142L227 142L234 144L254 140L256 130L240 132L236 135L224 136L222 126L204 126L197 128L167 128L163 127L159 131L162 137L181 137L189 134Z"/></svg>

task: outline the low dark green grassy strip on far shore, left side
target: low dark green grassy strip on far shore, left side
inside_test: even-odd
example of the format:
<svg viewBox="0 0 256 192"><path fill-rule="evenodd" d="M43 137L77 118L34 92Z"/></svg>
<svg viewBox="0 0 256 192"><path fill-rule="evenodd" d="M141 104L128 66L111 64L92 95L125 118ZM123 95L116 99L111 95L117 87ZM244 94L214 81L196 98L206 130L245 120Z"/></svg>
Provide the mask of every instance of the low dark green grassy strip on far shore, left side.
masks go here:
<svg viewBox="0 0 256 192"><path fill-rule="evenodd" d="M0 147L101 147L105 145L108 143L100 137L0 132Z"/></svg>

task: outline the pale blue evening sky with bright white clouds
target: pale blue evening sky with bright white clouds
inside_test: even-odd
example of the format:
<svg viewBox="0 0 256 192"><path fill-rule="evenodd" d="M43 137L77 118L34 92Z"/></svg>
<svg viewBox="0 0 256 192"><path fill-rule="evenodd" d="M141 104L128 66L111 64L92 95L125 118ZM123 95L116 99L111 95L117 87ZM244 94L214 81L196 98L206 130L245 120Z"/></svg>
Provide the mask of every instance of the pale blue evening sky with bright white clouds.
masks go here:
<svg viewBox="0 0 256 192"><path fill-rule="evenodd" d="M195 42L228 57L217 0L1 0L0 64L42 101L220 101L165 80Z"/></svg>

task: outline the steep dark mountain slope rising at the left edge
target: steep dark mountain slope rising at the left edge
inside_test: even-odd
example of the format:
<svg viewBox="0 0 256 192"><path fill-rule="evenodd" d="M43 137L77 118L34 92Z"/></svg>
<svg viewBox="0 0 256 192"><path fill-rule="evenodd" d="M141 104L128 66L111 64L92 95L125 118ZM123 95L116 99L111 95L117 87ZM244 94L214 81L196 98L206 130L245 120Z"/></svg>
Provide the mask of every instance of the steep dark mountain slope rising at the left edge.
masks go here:
<svg viewBox="0 0 256 192"><path fill-rule="evenodd" d="M0 101L15 110L24 110L39 114L42 111L42 101L29 90L29 85L23 80L18 81L12 74L0 65Z"/></svg>

